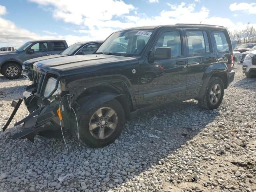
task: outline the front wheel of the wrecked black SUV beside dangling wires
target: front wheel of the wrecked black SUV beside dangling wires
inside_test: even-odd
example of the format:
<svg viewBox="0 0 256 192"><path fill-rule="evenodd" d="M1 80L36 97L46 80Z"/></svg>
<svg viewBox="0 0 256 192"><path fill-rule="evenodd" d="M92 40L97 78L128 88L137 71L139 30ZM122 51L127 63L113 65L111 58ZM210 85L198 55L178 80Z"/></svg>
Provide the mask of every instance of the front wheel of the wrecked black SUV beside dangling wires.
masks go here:
<svg viewBox="0 0 256 192"><path fill-rule="evenodd" d="M115 99L110 100L81 116L80 138L91 147L104 147L120 136L124 122L122 105Z"/></svg>

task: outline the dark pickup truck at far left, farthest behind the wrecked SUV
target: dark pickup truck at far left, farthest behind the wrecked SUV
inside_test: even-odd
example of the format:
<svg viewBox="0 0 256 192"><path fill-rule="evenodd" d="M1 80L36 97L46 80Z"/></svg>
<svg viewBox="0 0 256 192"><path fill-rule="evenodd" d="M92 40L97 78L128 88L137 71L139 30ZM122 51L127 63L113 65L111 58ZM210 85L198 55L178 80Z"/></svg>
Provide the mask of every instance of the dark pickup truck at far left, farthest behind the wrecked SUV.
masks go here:
<svg viewBox="0 0 256 192"><path fill-rule="evenodd" d="M22 63L26 60L51 54L59 54L68 48L65 40L29 41L13 52L0 52L0 73L8 79L21 76Z"/></svg>

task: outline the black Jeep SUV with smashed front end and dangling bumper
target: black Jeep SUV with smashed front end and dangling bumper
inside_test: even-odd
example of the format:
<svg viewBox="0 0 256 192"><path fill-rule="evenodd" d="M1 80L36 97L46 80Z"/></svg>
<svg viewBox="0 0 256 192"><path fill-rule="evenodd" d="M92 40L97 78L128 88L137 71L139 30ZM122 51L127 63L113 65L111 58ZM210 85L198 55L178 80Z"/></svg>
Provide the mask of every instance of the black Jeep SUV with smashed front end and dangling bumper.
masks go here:
<svg viewBox="0 0 256 192"><path fill-rule="evenodd" d="M120 135L125 119L144 110L193 98L203 109L216 109L234 80L232 60L230 37L222 26L114 32L95 54L34 63L36 78L24 92L30 115L15 124L23 124L23 131L13 138L33 141L36 134L51 131L53 136L61 130L78 132L85 143L102 147Z"/></svg>

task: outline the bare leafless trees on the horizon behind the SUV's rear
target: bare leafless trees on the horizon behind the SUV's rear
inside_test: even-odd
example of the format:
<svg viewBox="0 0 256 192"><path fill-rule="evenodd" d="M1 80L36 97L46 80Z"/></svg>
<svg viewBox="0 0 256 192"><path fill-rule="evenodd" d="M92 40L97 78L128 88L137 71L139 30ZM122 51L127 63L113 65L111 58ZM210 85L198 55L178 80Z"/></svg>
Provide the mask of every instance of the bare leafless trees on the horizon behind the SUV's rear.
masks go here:
<svg viewBox="0 0 256 192"><path fill-rule="evenodd" d="M231 40L236 40L237 43L254 43L256 42L256 29L247 23L244 30L228 30Z"/></svg>

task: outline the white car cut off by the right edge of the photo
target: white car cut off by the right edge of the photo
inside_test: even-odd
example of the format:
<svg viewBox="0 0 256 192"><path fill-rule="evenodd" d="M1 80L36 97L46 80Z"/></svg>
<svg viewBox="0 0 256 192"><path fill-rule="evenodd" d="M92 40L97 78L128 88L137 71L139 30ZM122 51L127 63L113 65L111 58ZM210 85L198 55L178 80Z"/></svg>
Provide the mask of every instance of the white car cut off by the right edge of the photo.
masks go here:
<svg viewBox="0 0 256 192"><path fill-rule="evenodd" d="M256 77L256 50L245 56L243 62L243 72L246 77Z"/></svg>

